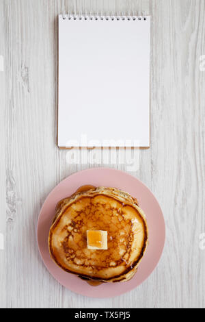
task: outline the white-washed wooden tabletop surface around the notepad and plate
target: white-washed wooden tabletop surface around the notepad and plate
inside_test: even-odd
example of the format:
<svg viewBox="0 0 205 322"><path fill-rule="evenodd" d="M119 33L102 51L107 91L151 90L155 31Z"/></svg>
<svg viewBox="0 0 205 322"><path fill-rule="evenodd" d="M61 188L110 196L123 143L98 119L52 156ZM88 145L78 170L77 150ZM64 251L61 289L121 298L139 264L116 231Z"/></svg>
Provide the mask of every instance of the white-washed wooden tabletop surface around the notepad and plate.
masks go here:
<svg viewBox="0 0 205 322"><path fill-rule="evenodd" d="M46 271L36 244L46 195L61 179L93 166L68 164L67 151L55 144L57 14L63 5L66 12L130 9L152 15L151 148L140 150L139 169L132 173L159 199L167 241L148 280L113 299L90 299L59 285ZM0 306L204 308L205 251L199 247L205 232L205 72L199 67L205 55L204 0L0 0L0 39L5 58L5 72L0 72L5 221ZM110 166L127 170L123 164Z"/></svg>

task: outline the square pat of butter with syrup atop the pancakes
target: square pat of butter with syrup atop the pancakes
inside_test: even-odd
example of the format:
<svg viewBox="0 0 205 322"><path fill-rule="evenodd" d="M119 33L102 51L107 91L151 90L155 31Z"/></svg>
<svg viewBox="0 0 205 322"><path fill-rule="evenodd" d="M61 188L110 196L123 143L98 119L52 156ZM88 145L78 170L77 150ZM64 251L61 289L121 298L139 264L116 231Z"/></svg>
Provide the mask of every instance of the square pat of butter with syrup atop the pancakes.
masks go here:
<svg viewBox="0 0 205 322"><path fill-rule="evenodd" d="M87 249L107 249L107 232L87 230Z"/></svg>

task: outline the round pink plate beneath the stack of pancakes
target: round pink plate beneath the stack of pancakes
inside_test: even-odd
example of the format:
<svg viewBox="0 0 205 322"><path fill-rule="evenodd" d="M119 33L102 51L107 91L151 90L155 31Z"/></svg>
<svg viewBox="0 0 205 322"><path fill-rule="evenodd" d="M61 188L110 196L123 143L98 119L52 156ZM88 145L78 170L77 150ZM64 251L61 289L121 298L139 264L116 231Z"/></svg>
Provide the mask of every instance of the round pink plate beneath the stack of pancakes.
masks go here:
<svg viewBox="0 0 205 322"><path fill-rule="evenodd" d="M80 186L109 186L130 193L139 201L139 206L147 216L149 229L149 245L137 273L129 282L106 283L93 287L79 277L66 273L51 260L48 248L48 236L55 216L57 202L74 193ZM138 179L122 171L114 169L87 169L70 175L56 186L46 198L38 219L38 247L42 260L49 272L63 286L75 293L88 297L114 297L133 290L154 271L161 258L165 244L165 221L163 213L151 191Z"/></svg>

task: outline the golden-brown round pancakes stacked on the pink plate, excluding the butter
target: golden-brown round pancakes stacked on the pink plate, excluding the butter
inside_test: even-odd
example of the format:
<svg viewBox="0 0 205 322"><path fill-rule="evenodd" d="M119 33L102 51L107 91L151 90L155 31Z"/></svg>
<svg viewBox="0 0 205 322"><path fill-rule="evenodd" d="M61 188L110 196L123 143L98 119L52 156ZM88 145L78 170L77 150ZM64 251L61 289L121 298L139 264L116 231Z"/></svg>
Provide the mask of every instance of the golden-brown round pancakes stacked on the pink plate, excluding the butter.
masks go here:
<svg viewBox="0 0 205 322"><path fill-rule="evenodd" d="M87 230L107 231L108 249L87 249ZM55 263L87 280L130 280L146 251L146 216L115 188L92 188L60 201L49 233Z"/></svg>

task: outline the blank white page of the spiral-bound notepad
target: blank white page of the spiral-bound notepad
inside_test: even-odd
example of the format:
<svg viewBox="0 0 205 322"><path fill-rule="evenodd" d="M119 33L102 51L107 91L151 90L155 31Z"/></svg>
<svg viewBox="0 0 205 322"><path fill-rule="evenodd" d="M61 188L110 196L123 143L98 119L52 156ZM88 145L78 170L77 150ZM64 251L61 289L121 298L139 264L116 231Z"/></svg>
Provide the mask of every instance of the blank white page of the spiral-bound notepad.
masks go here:
<svg viewBox="0 0 205 322"><path fill-rule="evenodd" d="M59 147L150 146L150 16L59 16L58 121Z"/></svg>

